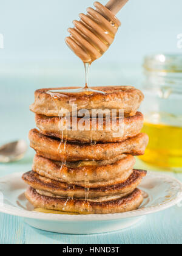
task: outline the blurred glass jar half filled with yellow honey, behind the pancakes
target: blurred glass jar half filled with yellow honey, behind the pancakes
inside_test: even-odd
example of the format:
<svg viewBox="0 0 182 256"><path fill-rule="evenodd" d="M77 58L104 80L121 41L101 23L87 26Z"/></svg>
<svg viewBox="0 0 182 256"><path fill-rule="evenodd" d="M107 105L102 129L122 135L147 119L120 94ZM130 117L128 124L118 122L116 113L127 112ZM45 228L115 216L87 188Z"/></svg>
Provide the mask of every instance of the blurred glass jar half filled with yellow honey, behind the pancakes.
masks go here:
<svg viewBox="0 0 182 256"><path fill-rule="evenodd" d="M157 54L144 60L143 132L149 135L150 165L182 172L182 54Z"/></svg>

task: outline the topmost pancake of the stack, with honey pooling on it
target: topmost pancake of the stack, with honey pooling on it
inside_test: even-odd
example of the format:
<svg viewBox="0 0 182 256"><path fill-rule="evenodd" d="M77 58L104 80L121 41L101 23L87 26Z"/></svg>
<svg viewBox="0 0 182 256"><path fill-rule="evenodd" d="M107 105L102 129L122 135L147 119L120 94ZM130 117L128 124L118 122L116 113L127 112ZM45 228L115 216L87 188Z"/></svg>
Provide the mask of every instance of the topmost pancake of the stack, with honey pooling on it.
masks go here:
<svg viewBox="0 0 182 256"><path fill-rule="evenodd" d="M79 116L73 110L73 104L77 105L77 110L99 109L99 110L123 110L124 113L134 115L140 107L144 96L140 90L129 86L118 87L94 87L94 90L103 91L96 93L92 91L80 93L54 93L52 97L47 91L51 90L74 90L76 88L45 88L35 91L35 102L30 106L30 110L36 114L45 116L60 116L60 110L66 109L72 116Z"/></svg>

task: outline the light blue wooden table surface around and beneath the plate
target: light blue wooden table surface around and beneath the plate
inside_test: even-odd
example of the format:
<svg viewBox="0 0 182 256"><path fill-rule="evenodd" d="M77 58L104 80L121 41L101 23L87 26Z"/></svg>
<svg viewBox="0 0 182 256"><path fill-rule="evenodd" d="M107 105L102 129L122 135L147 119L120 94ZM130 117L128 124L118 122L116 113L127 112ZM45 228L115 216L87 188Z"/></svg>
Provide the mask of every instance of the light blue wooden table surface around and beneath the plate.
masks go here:
<svg viewBox="0 0 182 256"><path fill-rule="evenodd" d="M1 76L0 76L1 77ZM0 94L0 144L24 138L35 127L34 116L29 112L36 88L51 86L51 79L17 79L1 77ZM16 84L16 86L15 86ZM119 83L118 83L119 84ZM56 85L56 83L55 83ZM7 97L8 96L8 97ZM19 171L29 171L32 165L33 150L29 149L25 158L16 163L0 164L0 176ZM138 162L136 168L153 169ZM167 172L182 181L182 174ZM0 213L0 243L84 243L84 244L126 244L126 243L181 243L182 207L175 206L163 212L146 216L134 227L113 233L99 235L64 235L34 229L24 223L22 218Z"/></svg>

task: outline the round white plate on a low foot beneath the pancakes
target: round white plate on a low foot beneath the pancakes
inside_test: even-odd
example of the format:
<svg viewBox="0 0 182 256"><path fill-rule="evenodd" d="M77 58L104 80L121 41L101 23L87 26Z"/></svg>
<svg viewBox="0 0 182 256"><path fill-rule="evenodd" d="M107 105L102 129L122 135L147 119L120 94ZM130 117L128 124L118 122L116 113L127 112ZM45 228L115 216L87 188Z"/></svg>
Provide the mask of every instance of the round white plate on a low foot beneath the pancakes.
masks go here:
<svg viewBox="0 0 182 256"><path fill-rule="evenodd" d="M148 172L140 185L145 199L138 210L107 215L45 214L32 211L32 205L24 196L27 185L21 176L22 172L1 177L0 212L21 216L30 226L50 232L88 234L124 229L145 215L172 207L182 200L181 182L158 172Z"/></svg>

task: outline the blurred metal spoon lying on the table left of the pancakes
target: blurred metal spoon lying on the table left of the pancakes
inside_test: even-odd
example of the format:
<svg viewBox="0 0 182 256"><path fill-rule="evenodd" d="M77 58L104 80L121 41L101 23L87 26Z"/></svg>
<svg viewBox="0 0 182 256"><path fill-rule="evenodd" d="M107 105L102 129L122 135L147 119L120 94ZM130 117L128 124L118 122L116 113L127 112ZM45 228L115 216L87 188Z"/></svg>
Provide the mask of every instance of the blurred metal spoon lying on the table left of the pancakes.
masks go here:
<svg viewBox="0 0 182 256"><path fill-rule="evenodd" d="M20 160L27 151L27 143L24 140L7 143L0 148L0 162L8 163Z"/></svg>

